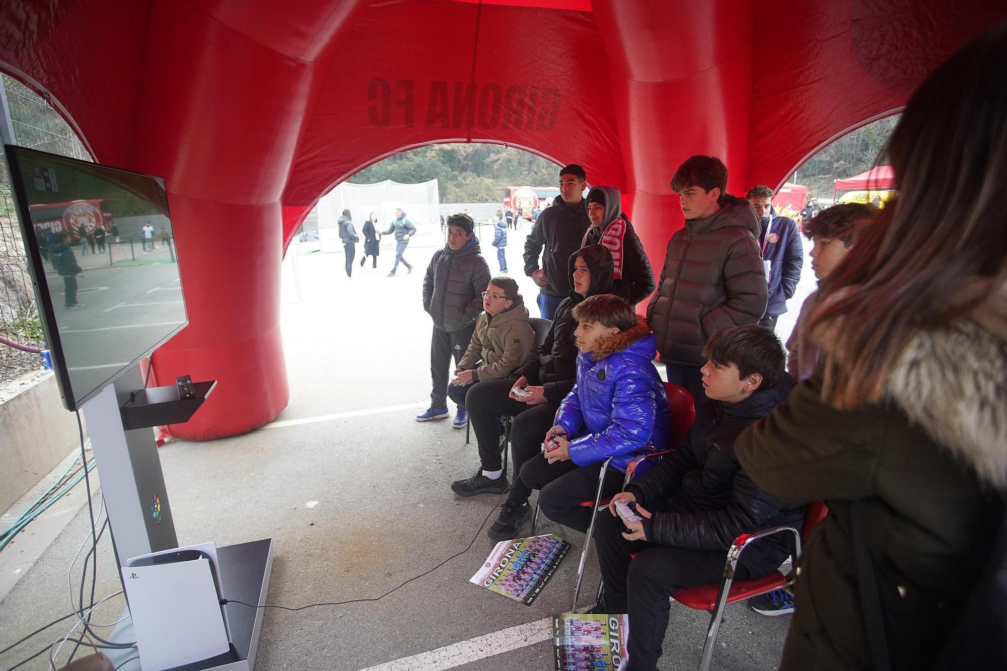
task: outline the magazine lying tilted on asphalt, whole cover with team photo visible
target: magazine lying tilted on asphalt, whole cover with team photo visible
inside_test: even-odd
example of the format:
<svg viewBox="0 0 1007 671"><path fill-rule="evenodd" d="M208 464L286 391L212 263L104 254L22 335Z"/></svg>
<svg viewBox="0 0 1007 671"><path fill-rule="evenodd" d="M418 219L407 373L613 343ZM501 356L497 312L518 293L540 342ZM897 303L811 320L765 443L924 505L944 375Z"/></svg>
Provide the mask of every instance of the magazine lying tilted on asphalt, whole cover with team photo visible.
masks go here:
<svg viewBox="0 0 1007 671"><path fill-rule="evenodd" d="M468 581L531 606L569 549L553 534L500 541Z"/></svg>

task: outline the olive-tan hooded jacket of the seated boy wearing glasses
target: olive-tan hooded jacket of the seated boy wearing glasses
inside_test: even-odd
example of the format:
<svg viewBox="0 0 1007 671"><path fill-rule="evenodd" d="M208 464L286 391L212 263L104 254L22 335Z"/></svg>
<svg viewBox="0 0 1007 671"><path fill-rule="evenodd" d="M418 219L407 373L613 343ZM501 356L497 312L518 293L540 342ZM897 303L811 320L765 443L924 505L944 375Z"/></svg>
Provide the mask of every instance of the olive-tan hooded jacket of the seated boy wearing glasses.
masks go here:
<svg viewBox="0 0 1007 671"><path fill-rule="evenodd" d="M511 375L535 348L535 330L528 322L528 308L518 294L514 304L496 316L483 312L475 320L458 368L472 371L472 382Z"/></svg>

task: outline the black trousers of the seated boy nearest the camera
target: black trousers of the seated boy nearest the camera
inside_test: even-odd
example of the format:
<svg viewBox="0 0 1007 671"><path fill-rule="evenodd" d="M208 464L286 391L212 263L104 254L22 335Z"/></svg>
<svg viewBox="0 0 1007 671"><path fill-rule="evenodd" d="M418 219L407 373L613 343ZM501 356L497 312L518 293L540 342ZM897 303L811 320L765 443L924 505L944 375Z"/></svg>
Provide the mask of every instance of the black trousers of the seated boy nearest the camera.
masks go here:
<svg viewBox="0 0 1007 671"><path fill-rule="evenodd" d="M646 508L646 506L644 506ZM654 512L648 508L650 512ZM661 657L669 597L682 587L720 581L727 550L687 550L622 537L622 520L608 511L598 513L594 544L605 583L605 613L629 615L629 671L653 671ZM629 555L636 552L630 560ZM753 576L739 565L735 578Z"/></svg>

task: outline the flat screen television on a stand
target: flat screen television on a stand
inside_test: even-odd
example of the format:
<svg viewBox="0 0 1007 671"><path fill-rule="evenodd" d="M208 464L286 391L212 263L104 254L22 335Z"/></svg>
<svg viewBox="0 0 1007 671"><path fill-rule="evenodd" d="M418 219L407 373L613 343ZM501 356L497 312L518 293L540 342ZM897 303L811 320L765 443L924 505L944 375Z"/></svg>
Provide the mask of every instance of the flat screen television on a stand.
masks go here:
<svg viewBox="0 0 1007 671"><path fill-rule="evenodd" d="M164 180L5 145L62 403L77 410L185 327Z"/></svg>

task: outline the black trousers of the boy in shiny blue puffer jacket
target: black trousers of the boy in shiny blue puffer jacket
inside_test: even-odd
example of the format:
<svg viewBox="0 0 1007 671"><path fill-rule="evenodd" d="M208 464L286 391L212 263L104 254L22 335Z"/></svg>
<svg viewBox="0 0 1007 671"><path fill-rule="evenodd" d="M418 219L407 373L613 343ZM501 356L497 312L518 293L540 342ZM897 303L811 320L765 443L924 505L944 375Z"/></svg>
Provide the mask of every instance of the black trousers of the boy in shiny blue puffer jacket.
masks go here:
<svg viewBox="0 0 1007 671"><path fill-rule="evenodd" d="M572 460L550 463L545 454L539 453L525 463L521 480L533 490L539 490L542 513L553 522L581 533L591 524L591 506L583 507L581 501L594 501L598 491L598 476L602 461L579 466ZM622 491L625 474L609 467L601 496L610 497Z"/></svg>

